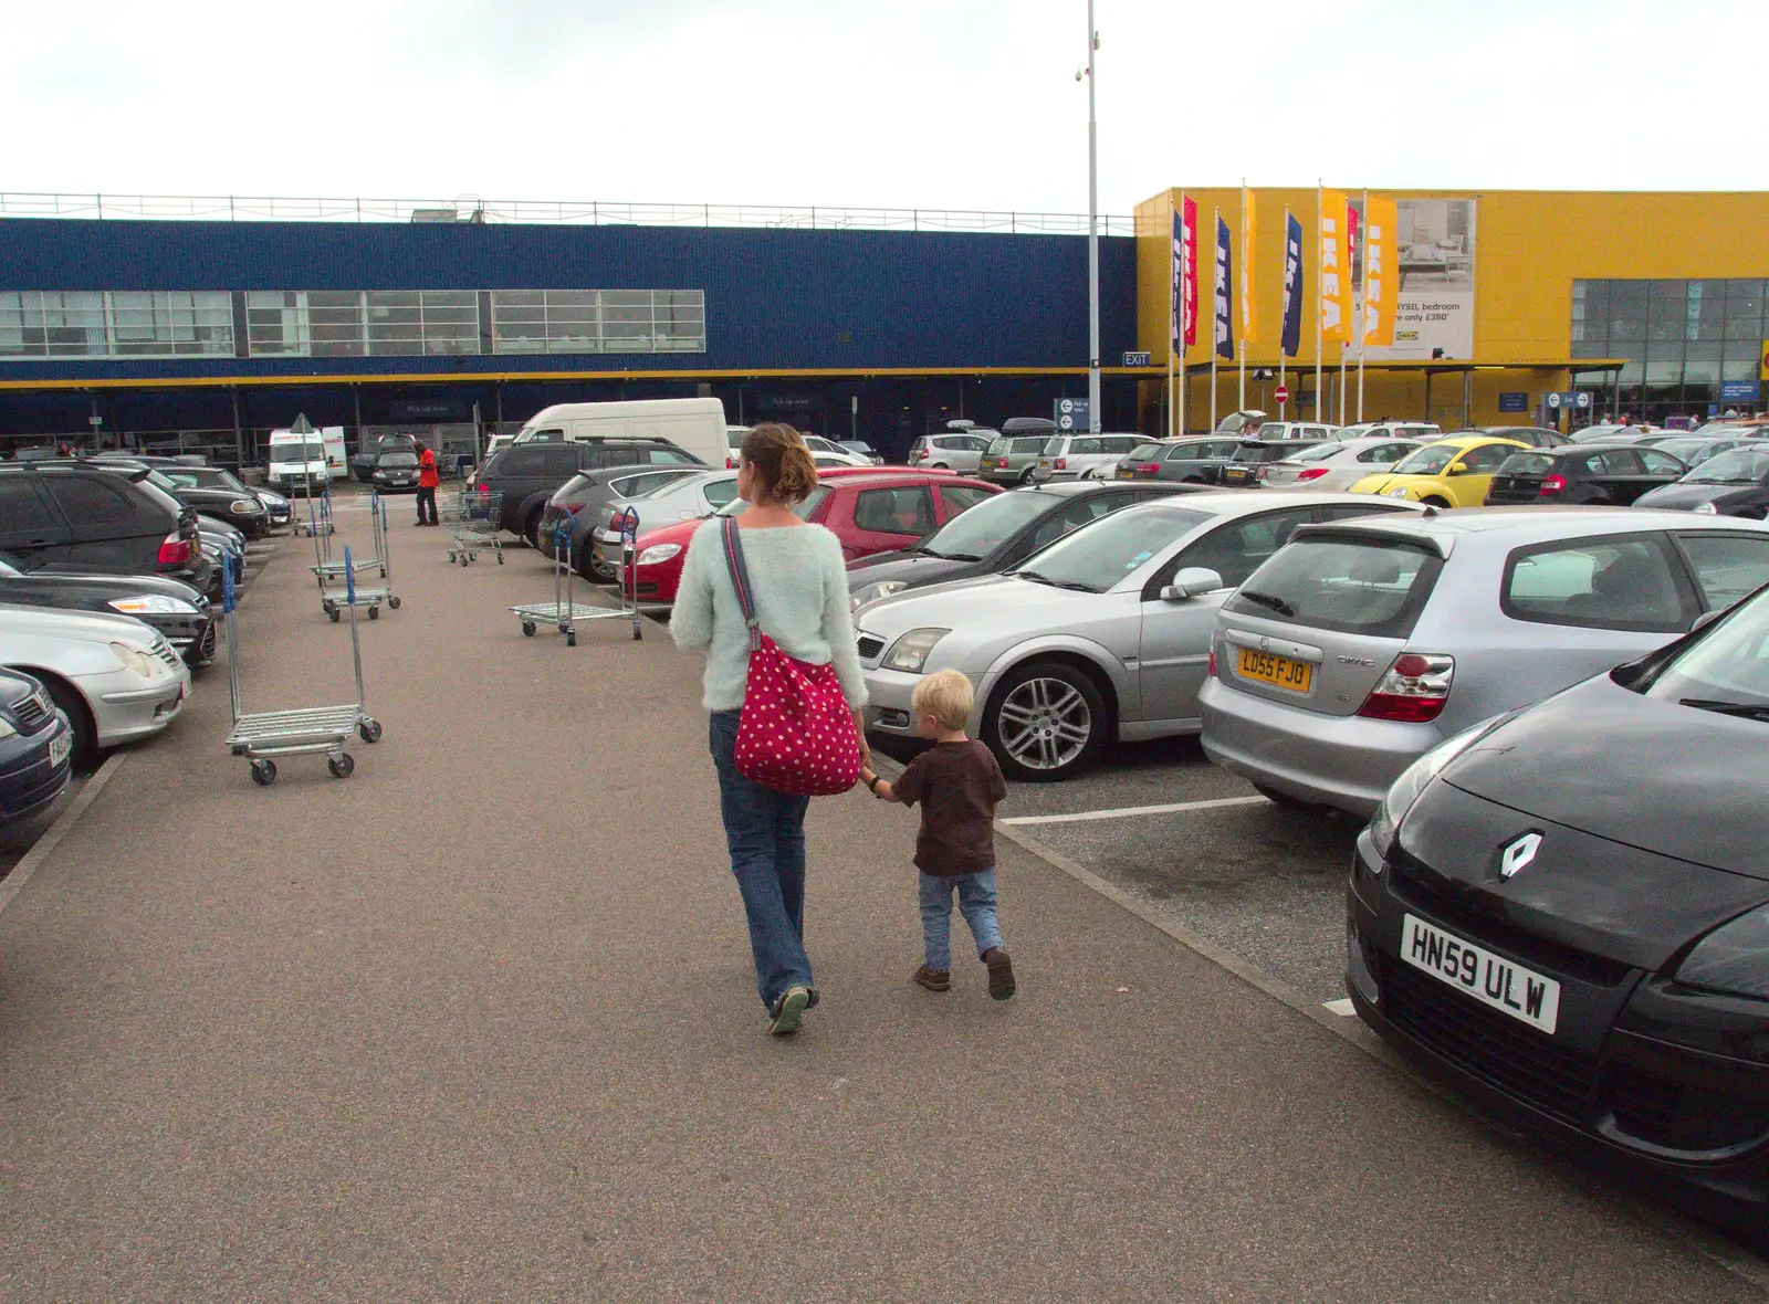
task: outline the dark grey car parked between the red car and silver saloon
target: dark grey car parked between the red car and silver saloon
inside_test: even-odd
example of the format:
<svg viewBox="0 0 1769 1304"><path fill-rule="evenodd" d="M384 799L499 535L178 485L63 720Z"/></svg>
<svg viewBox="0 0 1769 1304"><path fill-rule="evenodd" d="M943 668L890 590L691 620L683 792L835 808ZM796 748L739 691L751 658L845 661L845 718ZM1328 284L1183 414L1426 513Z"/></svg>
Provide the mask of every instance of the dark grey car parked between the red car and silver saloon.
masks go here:
<svg viewBox="0 0 1769 1304"><path fill-rule="evenodd" d="M904 588L999 574L1070 530L1120 507L1205 488L1160 481L1047 481L1037 488L998 493L909 548L849 562L847 595L858 608Z"/></svg>

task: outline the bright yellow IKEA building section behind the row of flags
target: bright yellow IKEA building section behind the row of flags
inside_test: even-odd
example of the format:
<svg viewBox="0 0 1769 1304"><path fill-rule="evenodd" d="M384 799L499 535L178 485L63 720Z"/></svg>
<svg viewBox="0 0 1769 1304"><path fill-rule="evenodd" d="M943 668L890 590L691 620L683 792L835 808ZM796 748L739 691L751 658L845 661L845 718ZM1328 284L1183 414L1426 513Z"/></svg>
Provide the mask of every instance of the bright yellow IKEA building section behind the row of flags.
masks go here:
<svg viewBox="0 0 1769 1304"><path fill-rule="evenodd" d="M1251 196L1256 339L1240 339L1242 196ZM1173 212L1198 207L1198 334L1183 350L1183 429L1210 428L1217 221L1228 228L1237 360L1217 359L1214 410L1316 417L1318 194L1307 189L1171 189L1137 205L1137 346L1166 371ZM1352 207L1364 193L1348 189ZM1375 194L1375 191L1373 191ZM1399 299L1392 346L1364 357L1362 413L1426 417L1444 429L1553 421L1573 426L1764 410L1764 277L1769 193L1385 191L1398 207ZM1279 357L1286 214L1302 230L1302 329ZM1353 284L1360 269L1353 267ZM1359 419L1359 345L1321 348L1320 412ZM1173 359L1175 369L1180 359ZM1341 382L1341 362L1344 380ZM1270 380L1254 380L1254 373ZM1166 422L1166 380L1143 383L1145 426ZM1583 398L1567 398L1583 394ZM1175 413L1180 415L1180 413Z"/></svg>

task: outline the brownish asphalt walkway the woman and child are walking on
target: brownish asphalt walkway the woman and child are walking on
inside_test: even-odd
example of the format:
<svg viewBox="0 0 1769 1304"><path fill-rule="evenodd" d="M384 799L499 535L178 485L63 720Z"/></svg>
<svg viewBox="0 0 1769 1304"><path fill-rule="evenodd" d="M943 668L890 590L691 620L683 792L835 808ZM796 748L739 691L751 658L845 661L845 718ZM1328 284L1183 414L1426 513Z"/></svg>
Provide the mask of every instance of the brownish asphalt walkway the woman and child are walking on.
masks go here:
<svg viewBox="0 0 1769 1304"><path fill-rule="evenodd" d="M865 793L814 804L824 1002L766 1037L697 659L624 622L525 640L538 558L448 565L439 535L394 527L354 777L255 788L209 680L0 914L0 1292L1760 1299L1012 841L1021 995L915 988L915 823ZM304 546L242 610L249 710L348 700ZM1318 836L1261 811L1125 834L1164 882L1256 878L1242 841Z"/></svg>

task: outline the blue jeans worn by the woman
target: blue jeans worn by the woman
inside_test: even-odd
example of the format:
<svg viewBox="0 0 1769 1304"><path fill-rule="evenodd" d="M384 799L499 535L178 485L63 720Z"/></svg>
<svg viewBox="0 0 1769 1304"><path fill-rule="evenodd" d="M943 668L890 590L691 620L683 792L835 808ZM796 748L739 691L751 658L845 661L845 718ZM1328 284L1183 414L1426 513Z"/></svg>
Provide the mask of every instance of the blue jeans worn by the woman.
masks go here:
<svg viewBox="0 0 1769 1304"><path fill-rule="evenodd" d="M787 797L738 774L732 758L736 710L715 710L708 735L731 873L750 921L755 991L771 1011L787 988L810 986L805 954L805 811L810 797Z"/></svg>

